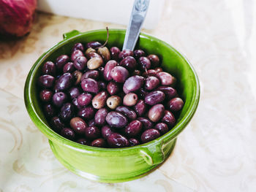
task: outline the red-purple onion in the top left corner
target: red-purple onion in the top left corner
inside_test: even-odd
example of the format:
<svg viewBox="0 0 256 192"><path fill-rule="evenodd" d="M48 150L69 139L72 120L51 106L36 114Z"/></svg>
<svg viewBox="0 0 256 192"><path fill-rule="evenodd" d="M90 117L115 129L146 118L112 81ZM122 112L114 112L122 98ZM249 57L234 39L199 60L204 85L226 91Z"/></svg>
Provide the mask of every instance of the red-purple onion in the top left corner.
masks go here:
<svg viewBox="0 0 256 192"><path fill-rule="evenodd" d="M22 37L29 33L37 0L0 0L0 34Z"/></svg>

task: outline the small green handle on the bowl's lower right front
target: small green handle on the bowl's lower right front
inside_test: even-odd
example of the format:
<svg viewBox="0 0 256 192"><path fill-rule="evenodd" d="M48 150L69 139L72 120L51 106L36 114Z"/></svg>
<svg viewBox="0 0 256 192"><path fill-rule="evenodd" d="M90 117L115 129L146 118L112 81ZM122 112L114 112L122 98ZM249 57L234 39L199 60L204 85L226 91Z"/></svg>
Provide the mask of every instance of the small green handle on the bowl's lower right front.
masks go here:
<svg viewBox="0 0 256 192"><path fill-rule="evenodd" d="M140 150L140 155L148 165L161 164L165 160L165 154L162 151L162 142L157 145L143 147Z"/></svg>

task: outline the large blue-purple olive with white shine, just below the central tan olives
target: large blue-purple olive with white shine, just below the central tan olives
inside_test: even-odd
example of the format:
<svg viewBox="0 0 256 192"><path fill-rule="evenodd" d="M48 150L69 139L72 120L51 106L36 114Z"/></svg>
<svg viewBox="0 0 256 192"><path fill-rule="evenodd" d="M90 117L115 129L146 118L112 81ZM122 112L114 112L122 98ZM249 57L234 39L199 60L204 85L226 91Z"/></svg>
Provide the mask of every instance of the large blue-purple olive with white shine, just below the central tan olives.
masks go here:
<svg viewBox="0 0 256 192"><path fill-rule="evenodd" d="M127 126L128 120L120 112L109 112L106 121L110 127L123 128Z"/></svg>

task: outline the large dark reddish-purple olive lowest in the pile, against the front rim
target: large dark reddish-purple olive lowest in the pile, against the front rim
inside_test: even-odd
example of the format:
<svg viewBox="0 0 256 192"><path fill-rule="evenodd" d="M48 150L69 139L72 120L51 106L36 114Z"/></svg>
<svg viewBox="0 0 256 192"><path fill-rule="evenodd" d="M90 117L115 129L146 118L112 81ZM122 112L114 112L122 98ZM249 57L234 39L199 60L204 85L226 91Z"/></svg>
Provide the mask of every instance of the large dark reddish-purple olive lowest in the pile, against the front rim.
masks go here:
<svg viewBox="0 0 256 192"><path fill-rule="evenodd" d="M110 136L107 138L107 141L108 145L113 148L129 146L127 138L118 133L110 134Z"/></svg>

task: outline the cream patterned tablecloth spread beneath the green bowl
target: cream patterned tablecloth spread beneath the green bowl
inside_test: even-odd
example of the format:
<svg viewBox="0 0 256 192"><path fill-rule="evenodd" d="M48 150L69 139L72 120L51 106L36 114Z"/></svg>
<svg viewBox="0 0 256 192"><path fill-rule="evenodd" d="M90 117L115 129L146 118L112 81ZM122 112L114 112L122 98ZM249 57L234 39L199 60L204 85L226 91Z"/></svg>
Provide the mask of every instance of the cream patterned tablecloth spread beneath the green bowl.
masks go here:
<svg viewBox="0 0 256 192"><path fill-rule="evenodd" d="M256 191L256 2L166 1L144 31L189 58L201 97L172 155L139 180L102 184L69 172L31 122L23 85L39 55L73 29L125 28L37 13L29 36L0 42L0 191Z"/></svg>

